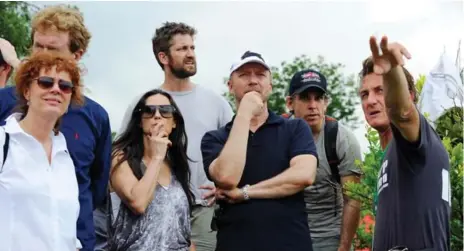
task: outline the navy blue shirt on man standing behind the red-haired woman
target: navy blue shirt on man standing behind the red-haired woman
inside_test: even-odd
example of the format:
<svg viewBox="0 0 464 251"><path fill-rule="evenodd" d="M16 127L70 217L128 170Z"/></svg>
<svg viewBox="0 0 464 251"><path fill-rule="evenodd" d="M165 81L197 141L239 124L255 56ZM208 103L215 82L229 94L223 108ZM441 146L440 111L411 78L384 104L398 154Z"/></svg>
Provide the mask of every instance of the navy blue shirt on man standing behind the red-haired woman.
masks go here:
<svg viewBox="0 0 464 251"><path fill-rule="evenodd" d="M13 87L0 89L0 125L17 105ZM108 113L85 97L83 107L70 107L63 116L60 131L66 138L79 183L80 212L77 238L84 251L93 251L95 228L93 210L102 205L111 167L111 129Z"/></svg>

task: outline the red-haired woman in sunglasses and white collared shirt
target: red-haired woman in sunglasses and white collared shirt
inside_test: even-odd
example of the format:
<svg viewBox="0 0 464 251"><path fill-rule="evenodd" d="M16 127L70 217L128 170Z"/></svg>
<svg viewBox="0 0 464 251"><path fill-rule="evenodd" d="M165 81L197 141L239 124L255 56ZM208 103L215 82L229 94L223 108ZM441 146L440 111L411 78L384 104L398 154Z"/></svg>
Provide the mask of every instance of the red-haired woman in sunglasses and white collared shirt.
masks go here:
<svg viewBox="0 0 464 251"><path fill-rule="evenodd" d="M0 129L0 250L75 251L78 184L59 120L82 104L74 59L39 52L21 64L19 106Z"/></svg>

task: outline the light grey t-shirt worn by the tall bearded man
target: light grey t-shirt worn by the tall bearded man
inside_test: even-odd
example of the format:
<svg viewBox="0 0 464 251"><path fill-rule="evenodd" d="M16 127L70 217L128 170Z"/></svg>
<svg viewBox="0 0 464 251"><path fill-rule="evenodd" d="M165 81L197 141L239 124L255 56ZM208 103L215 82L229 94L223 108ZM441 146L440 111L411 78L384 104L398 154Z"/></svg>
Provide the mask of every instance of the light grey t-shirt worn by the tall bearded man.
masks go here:
<svg viewBox="0 0 464 251"><path fill-rule="evenodd" d="M205 191L199 187L207 184L213 185L213 183L206 178L203 168L201 139L206 132L217 130L227 124L233 116L232 108L224 97L201 85L195 85L192 90L186 92L166 92L171 94L184 117L188 138L187 156L191 159L189 161L191 189L195 195L195 203L206 205L206 201L201 198ZM127 108L119 133L126 128L130 115L141 96L136 97Z"/></svg>

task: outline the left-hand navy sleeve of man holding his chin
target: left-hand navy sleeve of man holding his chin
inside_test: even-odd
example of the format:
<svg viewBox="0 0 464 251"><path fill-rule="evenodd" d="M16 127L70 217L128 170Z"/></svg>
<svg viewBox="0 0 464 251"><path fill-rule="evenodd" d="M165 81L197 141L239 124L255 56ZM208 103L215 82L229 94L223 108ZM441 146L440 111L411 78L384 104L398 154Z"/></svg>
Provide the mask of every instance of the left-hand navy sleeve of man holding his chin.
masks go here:
<svg viewBox="0 0 464 251"><path fill-rule="evenodd" d="M203 157L203 168L208 180L211 179L209 166L219 156L225 144L225 139L219 137L219 130L207 132L201 140L201 154Z"/></svg>

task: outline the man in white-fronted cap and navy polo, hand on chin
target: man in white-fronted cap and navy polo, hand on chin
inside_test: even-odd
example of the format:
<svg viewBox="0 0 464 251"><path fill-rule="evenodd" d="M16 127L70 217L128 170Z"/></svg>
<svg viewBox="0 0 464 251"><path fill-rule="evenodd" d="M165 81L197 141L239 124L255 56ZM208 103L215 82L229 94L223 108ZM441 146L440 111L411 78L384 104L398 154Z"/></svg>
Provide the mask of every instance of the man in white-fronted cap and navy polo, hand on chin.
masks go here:
<svg viewBox="0 0 464 251"><path fill-rule="evenodd" d="M216 251L312 250L303 197L317 167L310 128L267 109L271 72L260 54L246 52L228 86L236 116L201 144L220 205Z"/></svg>

